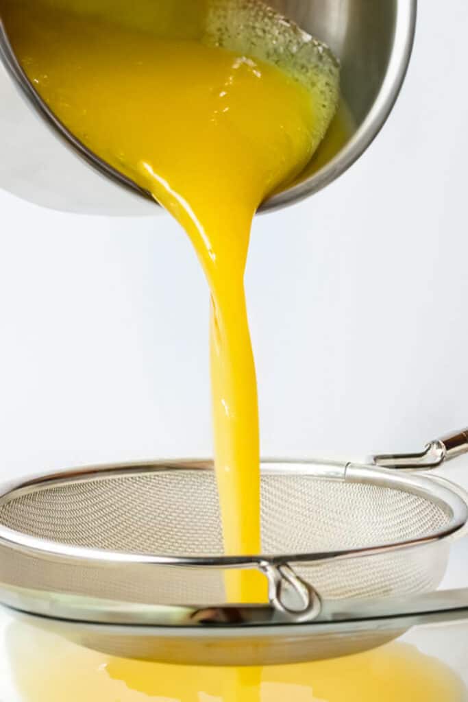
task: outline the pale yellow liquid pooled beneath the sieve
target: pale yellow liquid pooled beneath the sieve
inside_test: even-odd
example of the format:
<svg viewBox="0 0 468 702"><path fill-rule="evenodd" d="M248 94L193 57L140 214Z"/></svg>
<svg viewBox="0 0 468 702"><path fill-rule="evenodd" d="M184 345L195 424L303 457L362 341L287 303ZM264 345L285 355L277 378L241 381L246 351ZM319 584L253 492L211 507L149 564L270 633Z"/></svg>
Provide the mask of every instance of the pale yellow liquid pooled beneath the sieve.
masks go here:
<svg viewBox="0 0 468 702"><path fill-rule="evenodd" d="M7 649L22 702L466 702L446 665L407 644L335 661L196 668L109 658L27 625Z"/></svg>

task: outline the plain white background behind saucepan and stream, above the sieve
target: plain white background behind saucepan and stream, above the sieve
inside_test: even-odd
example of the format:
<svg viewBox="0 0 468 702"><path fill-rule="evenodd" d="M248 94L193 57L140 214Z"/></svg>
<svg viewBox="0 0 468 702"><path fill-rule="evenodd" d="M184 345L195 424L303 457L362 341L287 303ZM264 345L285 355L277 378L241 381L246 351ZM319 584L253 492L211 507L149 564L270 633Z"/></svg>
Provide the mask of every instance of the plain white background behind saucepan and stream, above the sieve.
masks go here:
<svg viewBox="0 0 468 702"><path fill-rule="evenodd" d="M465 0L422 0L374 145L326 191L255 220L264 454L418 449L468 425L467 34ZM178 225L6 192L0 211L0 478L209 455L208 293Z"/></svg>

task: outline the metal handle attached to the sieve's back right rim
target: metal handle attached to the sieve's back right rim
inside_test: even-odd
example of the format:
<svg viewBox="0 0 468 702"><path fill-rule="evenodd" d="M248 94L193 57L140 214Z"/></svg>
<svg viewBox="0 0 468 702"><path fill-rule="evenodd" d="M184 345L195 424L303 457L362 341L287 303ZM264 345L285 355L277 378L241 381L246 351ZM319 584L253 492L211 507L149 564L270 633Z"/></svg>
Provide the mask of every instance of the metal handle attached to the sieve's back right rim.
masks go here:
<svg viewBox="0 0 468 702"><path fill-rule="evenodd" d="M463 453L468 453L468 428L429 442L420 453L383 453L374 456L373 463L398 470L432 470Z"/></svg>

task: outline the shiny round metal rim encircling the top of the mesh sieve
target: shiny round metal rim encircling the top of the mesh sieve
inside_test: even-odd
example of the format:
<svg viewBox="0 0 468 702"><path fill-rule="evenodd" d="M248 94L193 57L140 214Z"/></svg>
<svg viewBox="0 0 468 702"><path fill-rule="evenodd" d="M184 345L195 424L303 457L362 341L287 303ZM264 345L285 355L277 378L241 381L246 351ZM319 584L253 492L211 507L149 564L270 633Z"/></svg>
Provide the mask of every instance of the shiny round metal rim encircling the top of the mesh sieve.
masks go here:
<svg viewBox="0 0 468 702"><path fill-rule="evenodd" d="M310 475L315 478L336 480L342 482L360 482L400 489L406 493L415 494L439 505L451 512L448 525L431 534L420 538L404 541L394 541L377 544L368 548L348 548L326 552L305 552L279 555L255 556L203 556L176 557L171 555L148 555L120 551L102 550L72 546L58 541L48 541L43 538L14 531L0 524L0 543L14 550L36 552L44 555L66 559L77 559L80 562L119 562L132 564L154 564L178 567L210 567L218 569L257 568L265 570L269 567L279 567L290 563L316 563L330 560L342 560L355 557L377 555L394 550L417 548L420 545L441 541L443 538L457 534L468 522L468 505L460 494L427 475L412 475L409 473L377 468L375 465L360 465L338 461L323 461L317 459L265 459L262 460L262 475L287 476L294 468L294 474ZM111 463L105 465L74 468L52 474L41 474L26 481L13 482L0 487L0 508L9 501L31 492L50 489L51 487L69 484L70 482L91 482L108 479L116 475L148 475L149 471L168 472L172 470L203 470L213 471L213 461L181 459L168 461L142 461L141 463Z"/></svg>

